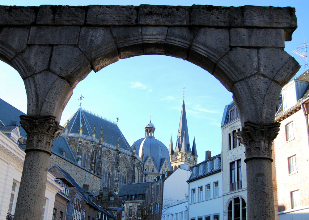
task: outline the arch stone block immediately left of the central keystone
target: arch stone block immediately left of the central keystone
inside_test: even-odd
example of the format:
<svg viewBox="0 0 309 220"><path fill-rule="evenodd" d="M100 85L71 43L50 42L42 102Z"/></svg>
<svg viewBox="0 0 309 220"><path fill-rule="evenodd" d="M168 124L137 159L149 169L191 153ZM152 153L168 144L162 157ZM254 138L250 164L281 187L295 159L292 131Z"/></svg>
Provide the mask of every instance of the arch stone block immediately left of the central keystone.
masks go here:
<svg viewBox="0 0 309 220"><path fill-rule="evenodd" d="M141 27L112 27L120 59L144 54Z"/></svg>

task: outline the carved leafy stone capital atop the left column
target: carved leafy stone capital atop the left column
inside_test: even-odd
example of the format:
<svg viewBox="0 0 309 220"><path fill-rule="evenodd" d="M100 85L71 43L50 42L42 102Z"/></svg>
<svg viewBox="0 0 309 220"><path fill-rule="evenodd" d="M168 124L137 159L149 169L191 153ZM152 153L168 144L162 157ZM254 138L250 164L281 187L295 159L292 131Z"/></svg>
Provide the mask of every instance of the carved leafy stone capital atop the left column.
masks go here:
<svg viewBox="0 0 309 220"><path fill-rule="evenodd" d="M54 116L20 116L20 124L27 132L27 151L44 151L51 155L52 143L60 136L63 127Z"/></svg>

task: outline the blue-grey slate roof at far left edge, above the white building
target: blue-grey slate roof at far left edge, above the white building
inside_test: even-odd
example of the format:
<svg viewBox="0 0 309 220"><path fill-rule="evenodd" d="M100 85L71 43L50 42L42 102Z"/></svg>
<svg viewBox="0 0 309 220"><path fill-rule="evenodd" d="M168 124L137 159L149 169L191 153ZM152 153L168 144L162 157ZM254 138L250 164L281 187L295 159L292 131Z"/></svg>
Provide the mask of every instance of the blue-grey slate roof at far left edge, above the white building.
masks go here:
<svg viewBox="0 0 309 220"><path fill-rule="evenodd" d="M22 111L19 111L17 108L13 107L12 105L8 104L6 101L0 99L0 123L4 126L10 125L18 125L20 135L23 138L27 138L27 133L25 130L20 127L20 118L21 115L26 115Z"/></svg>

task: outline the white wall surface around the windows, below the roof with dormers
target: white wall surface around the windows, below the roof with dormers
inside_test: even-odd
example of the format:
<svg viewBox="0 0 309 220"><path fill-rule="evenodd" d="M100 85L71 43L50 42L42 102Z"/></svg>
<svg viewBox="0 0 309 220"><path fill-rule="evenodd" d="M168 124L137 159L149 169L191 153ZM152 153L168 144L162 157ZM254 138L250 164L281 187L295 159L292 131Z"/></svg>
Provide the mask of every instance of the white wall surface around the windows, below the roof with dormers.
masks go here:
<svg viewBox="0 0 309 220"><path fill-rule="evenodd" d="M214 197L214 182L219 182L219 196ZM210 199L206 198L206 185L210 184ZM203 187L203 200L198 201L198 187ZM211 215L213 219L213 214L219 214L219 219L222 219L223 216L223 207L222 207L222 171L215 173L210 176L198 179L196 181L190 182L190 191L189 191L189 219L198 217L203 217ZM191 202L191 190L195 189L196 192L196 202Z"/></svg>

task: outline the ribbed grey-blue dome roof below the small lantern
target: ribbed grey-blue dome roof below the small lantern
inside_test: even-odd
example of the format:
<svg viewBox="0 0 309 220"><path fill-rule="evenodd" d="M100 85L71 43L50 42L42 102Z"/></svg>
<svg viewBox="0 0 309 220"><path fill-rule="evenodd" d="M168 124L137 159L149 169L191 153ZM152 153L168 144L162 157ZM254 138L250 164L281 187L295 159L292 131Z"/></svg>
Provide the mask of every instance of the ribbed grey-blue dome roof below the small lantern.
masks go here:
<svg viewBox="0 0 309 220"><path fill-rule="evenodd" d="M136 154L139 157L142 157L142 150L144 150L143 163L145 163L148 157L151 156L156 168L158 170L161 170L162 166L164 165L165 159L167 159L168 167L171 169L168 149L161 141L155 139L155 137L147 136L141 138L135 141L135 147L136 147Z"/></svg>

